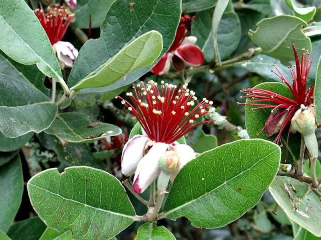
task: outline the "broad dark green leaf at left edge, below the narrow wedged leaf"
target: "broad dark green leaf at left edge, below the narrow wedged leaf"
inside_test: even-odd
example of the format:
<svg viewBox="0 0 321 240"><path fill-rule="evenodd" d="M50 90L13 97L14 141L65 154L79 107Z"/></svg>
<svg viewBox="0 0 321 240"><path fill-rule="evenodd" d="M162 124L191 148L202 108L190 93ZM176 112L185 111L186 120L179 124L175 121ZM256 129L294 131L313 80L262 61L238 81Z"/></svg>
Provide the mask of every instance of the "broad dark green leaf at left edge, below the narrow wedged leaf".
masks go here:
<svg viewBox="0 0 321 240"><path fill-rule="evenodd" d="M0 74L0 131L8 137L41 132L54 121L58 106L31 84Z"/></svg>

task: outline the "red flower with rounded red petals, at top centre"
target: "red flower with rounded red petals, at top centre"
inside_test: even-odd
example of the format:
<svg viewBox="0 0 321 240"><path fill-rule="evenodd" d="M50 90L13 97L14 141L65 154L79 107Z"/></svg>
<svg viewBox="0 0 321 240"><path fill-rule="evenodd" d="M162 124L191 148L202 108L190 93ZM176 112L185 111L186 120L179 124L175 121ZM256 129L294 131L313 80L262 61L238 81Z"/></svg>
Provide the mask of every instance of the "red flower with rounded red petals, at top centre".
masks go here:
<svg viewBox="0 0 321 240"><path fill-rule="evenodd" d="M176 36L172 46L167 53L151 68L151 72L155 75L163 75L168 73L171 67L182 71L185 69L185 63L189 66L200 66L204 61L204 54L198 46L194 45L197 38L195 36L187 36L193 22L193 18L189 15L181 17L180 25L176 31Z"/></svg>

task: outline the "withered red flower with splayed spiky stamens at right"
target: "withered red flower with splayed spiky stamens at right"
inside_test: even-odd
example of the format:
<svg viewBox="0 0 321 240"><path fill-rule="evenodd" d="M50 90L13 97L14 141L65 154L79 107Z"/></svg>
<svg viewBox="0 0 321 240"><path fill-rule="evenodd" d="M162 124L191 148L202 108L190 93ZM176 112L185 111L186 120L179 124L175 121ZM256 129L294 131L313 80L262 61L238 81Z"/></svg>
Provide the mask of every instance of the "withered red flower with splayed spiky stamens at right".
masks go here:
<svg viewBox="0 0 321 240"><path fill-rule="evenodd" d="M295 65L293 66L293 69L288 67L293 78L292 86L288 83L283 74L275 65L274 66L278 73L274 72L273 70L271 71L274 72L278 77L280 77L283 83L285 83L286 86L290 89L294 100L284 97L273 91L257 88L247 88L241 90L241 92L246 93L246 96L243 97L252 98L254 100L252 100L251 103L238 102L238 104L256 106L252 109L272 108L271 114L266 120L265 126L262 128L262 130L265 129L265 133L267 136L271 136L275 133L278 133L274 142L277 144L280 143L281 146L281 134L284 131L285 127L288 125L288 123L291 121L295 112L298 109L300 109L301 105L309 106L313 103L314 84L312 84L312 86L306 89L306 81L308 80L307 77L311 68L314 53L310 62L308 60L308 51L306 50L304 53L303 49L300 64L294 42L292 44L292 47L294 51ZM288 132L288 135L289 133L290 130Z"/></svg>

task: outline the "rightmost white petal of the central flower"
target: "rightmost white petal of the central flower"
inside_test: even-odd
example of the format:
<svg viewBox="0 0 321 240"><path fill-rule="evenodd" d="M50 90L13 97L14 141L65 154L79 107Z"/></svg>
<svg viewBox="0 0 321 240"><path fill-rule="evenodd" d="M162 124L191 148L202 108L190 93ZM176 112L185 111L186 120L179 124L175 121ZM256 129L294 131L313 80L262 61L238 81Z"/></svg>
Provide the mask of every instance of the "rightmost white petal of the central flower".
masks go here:
<svg viewBox="0 0 321 240"><path fill-rule="evenodd" d="M175 144L175 145L174 145ZM183 166L186 165L190 160L195 158L195 151L193 150L192 147L186 144L171 144L171 147L173 148L174 151L179 153L180 155L180 166L179 168L171 174L171 181L173 182L176 175L179 173L179 171L182 169Z"/></svg>

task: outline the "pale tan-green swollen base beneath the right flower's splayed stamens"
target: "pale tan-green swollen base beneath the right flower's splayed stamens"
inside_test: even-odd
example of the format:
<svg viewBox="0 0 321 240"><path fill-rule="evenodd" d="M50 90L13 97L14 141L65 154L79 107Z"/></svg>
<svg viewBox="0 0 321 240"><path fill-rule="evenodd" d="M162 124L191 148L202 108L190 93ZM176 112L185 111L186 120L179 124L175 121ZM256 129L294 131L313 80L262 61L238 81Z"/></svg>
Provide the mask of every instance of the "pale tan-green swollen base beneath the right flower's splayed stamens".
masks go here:
<svg viewBox="0 0 321 240"><path fill-rule="evenodd" d="M301 104L301 108L298 109L291 119L291 132L300 132L302 135L314 133L317 127L315 120L314 106L308 107Z"/></svg>

